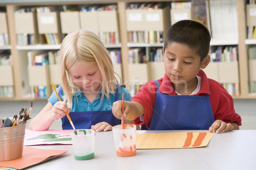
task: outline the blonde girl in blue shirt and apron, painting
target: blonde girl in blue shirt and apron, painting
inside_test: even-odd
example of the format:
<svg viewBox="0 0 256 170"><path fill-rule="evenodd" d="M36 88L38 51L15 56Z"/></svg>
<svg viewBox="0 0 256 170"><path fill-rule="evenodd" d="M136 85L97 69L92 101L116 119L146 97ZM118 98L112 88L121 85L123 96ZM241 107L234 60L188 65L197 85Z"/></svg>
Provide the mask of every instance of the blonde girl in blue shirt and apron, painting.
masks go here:
<svg viewBox="0 0 256 170"><path fill-rule="evenodd" d="M122 93L127 101L131 95L119 86L109 53L96 34L85 30L68 34L61 43L60 70L62 85L56 90L62 101L53 92L29 129L48 130L59 118L62 129L72 129L65 113L76 129L107 131L120 124L112 114L112 104L122 99Z"/></svg>

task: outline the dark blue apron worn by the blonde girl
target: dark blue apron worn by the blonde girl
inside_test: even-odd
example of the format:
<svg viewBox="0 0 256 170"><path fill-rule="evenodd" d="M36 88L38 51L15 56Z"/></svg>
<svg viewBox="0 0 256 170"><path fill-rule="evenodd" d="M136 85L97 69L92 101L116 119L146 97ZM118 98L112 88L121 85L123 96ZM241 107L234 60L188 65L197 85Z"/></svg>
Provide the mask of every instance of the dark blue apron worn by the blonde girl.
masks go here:
<svg viewBox="0 0 256 170"><path fill-rule="evenodd" d="M120 87L125 88L125 85L116 88L115 101L117 101ZM99 122L107 122L112 126L120 124L120 120L116 119L112 111L79 111L70 112L69 115L76 129L90 129L91 125L96 125ZM67 116L64 116L61 120L63 130L73 129Z"/></svg>

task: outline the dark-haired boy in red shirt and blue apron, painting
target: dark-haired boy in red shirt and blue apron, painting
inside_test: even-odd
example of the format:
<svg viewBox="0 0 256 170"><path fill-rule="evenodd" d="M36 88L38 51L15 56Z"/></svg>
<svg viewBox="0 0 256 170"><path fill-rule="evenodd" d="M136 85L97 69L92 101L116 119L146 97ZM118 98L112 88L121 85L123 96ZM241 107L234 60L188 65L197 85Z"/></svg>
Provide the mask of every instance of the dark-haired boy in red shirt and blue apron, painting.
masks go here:
<svg viewBox="0 0 256 170"><path fill-rule="evenodd" d="M131 102L113 103L118 119L145 124L148 130L238 130L241 117L233 99L204 71L210 61L211 36L201 23L181 20L167 31L163 45L165 75L143 85Z"/></svg>

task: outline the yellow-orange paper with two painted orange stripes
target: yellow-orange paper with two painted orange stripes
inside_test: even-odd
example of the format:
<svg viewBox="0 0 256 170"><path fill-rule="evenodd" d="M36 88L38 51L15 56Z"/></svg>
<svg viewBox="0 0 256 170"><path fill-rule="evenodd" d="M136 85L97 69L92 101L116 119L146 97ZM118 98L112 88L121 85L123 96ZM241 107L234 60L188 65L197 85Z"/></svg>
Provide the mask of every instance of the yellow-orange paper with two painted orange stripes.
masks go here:
<svg viewBox="0 0 256 170"><path fill-rule="evenodd" d="M171 149L207 146L213 133L145 133L136 134L136 149Z"/></svg>

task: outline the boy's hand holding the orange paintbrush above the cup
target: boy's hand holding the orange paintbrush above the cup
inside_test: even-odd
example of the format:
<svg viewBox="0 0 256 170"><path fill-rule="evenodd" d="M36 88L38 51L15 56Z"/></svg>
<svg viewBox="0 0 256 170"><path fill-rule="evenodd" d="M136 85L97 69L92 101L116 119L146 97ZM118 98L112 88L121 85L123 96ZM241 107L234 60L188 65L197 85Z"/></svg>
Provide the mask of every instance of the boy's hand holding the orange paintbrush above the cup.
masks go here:
<svg viewBox="0 0 256 170"><path fill-rule="evenodd" d="M129 111L130 111L130 104L127 101L124 101L123 115L122 115L122 101L118 100L116 102L113 102L112 112L117 119L127 118L127 114L129 113Z"/></svg>

